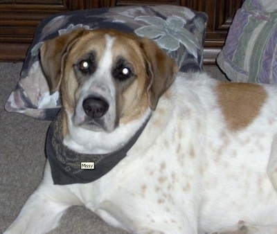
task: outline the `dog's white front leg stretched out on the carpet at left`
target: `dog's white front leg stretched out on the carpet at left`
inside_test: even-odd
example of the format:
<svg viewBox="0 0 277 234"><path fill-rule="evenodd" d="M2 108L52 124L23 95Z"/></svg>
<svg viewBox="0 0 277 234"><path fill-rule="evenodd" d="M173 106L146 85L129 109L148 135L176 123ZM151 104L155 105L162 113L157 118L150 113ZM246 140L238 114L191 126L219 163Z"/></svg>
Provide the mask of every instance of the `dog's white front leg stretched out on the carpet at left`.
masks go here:
<svg viewBox="0 0 277 234"><path fill-rule="evenodd" d="M59 224L66 209L75 204L79 205L80 201L66 186L53 184L50 167L46 163L42 183L4 234L47 233Z"/></svg>

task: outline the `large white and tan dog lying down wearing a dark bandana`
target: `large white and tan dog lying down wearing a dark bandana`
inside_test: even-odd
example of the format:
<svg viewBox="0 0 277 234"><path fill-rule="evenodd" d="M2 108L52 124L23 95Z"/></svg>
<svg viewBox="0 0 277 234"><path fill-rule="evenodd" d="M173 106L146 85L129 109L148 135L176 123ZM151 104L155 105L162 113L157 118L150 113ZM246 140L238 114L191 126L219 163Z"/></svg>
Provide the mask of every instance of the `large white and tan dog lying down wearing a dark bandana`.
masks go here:
<svg viewBox="0 0 277 234"><path fill-rule="evenodd" d="M62 109L6 233L51 231L73 205L129 233L277 233L276 87L181 73L116 30L73 30L40 56Z"/></svg>

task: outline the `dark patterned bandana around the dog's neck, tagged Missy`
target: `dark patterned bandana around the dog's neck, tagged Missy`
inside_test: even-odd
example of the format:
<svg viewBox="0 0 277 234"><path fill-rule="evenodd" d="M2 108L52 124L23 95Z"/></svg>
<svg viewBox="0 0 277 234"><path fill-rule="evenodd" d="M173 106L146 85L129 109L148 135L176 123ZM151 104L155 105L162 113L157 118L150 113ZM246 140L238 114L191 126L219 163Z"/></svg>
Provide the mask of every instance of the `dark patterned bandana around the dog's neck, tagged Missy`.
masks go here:
<svg viewBox="0 0 277 234"><path fill-rule="evenodd" d="M62 141L62 111L51 123L46 138L46 156L51 166L54 184L89 183L104 176L125 158L136 143L150 117L126 145L109 154L80 154L66 147ZM94 165L94 169L81 169L81 163Z"/></svg>

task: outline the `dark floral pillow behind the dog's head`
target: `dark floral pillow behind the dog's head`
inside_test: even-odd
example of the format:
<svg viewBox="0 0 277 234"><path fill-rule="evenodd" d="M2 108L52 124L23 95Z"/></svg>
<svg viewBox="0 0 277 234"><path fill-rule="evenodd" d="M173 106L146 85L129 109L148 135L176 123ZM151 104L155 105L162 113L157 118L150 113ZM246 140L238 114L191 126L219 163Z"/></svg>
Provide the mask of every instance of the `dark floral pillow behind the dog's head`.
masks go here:
<svg viewBox="0 0 277 234"><path fill-rule="evenodd" d="M75 28L114 28L154 39L179 64L181 71L202 70L207 16L181 6L127 6L78 10L44 19L28 48L21 78L5 108L42 120L53 120L61 102L50 95L39 62L39 48L46 39Z"/></svg>

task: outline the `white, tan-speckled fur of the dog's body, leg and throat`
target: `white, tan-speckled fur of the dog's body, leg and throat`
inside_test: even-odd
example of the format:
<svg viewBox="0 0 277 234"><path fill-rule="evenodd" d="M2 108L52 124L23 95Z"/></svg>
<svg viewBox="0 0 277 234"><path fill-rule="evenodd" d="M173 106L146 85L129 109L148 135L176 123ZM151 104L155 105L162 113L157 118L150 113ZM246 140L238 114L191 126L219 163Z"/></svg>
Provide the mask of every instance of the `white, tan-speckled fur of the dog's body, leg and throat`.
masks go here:
<svg viewBox="0 0 277 234"><path fill-rule="evenodd" d="M179 73L128 156L97 181L54 186L46 163L41 185L6 233L50 231L72 205L131 233L234 233L243 225L247 233L277 233L277 193L267 176L269 156L277 158L277 89L265 87L258 117L231 131L216 85L205 73ZM94 142L73 148L116 147L148 114L101 138L69 125L71 134Z"/></svg>

